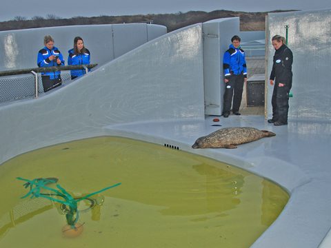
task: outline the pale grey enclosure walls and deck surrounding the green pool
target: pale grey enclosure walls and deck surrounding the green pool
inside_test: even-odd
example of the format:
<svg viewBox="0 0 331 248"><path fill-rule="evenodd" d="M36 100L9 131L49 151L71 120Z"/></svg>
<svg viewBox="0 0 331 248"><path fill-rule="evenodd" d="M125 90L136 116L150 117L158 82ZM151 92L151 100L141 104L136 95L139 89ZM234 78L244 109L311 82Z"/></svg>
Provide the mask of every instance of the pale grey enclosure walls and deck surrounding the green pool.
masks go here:
<svg viewBox="0 0 331 248"><path fill-rule="evenodd" d="M330 65L330 10L270 14L268 18L268 37L284 34L284 24L298 30L289 32L294 52L289 124L275 127L264 116L221 118L222 127L257 127L277 135L238 149L192 149L199 136L219 129L212 126L212 117L205 116L205 101L216 99L208 104L219 104L221 109L221 86L219 99L205 97L204 91L208 91L208 82L221 82L217 56L223 56L221 48L229 44L233 30L225 34L219 27L228 21L236 28L231 20L206 23L217 33L204 32L202 23L191 25L144 43L39 99L0 105L0 164L39 147L92 136L130 136L160 145L171 143L265 176L288 190L290 200L285 209L252 247L318 247L331 227L331 88L325 81L326 66ZM310 22L319 25L313 28ZM30 32L33 37L33 30ZM219 38L203 39L205 33ZM52 35L57 41L56 34ZM36 48L40 46L38 43ZM90 48L90 43L86 46ZM270 44L267 47L269 74L273 50ZM312 82L314 85L310 85Z"/></svg>

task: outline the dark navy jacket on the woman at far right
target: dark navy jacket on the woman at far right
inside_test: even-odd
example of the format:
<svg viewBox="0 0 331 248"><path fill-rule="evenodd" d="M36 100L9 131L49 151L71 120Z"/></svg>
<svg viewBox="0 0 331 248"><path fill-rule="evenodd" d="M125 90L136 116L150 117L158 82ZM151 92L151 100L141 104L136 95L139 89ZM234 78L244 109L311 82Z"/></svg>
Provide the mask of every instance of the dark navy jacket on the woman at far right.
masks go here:
<svg viewBox="0 0 331 248"><path fill-rule="evenodd" d="M292 63L292 51L285 44L281 45L281 47L274 52L274 64L272 65L270 79L274 80L276 77L276 83L283 83L291 88Z"/></svg>

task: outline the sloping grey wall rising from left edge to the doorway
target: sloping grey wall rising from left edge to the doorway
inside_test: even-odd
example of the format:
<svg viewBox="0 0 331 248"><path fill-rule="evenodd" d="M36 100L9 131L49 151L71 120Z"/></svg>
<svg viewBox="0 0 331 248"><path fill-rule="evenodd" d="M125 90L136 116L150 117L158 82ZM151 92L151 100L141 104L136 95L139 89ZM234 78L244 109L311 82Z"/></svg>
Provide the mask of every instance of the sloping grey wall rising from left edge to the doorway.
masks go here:
<svg viewBox="0 0 331 248"><path fill-rule="evenodd" d="M46 145L103 135L103 127L114 123L204 118L202 58L202 26L192 25L39 99L1 105L0 163Z"/></svg>

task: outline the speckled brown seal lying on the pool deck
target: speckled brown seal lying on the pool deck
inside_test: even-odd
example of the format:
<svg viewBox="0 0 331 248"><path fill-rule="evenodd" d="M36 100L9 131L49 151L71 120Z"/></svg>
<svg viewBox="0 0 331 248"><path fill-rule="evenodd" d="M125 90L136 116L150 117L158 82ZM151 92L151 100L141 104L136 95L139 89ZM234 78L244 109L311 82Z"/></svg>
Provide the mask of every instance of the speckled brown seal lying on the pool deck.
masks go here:
<svg viewBox="0 0 331 248"><path fill-rule="evenodd" d="M254 127L225 127L202 136L195 141L192 148L237 148L237 145L257 141L260 138L272 137L276 134Z"/></svg>

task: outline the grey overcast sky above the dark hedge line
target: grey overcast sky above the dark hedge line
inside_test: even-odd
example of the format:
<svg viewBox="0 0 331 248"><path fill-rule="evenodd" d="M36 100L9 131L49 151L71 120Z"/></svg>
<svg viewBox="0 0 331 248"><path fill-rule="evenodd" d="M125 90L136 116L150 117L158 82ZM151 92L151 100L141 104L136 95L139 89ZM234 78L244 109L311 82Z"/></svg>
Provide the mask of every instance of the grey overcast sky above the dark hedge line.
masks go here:
<svg viewBox="0 0 331 248"><path fill-rule="evenodd" d="M330 0L6 0L1 1L0 21L14 17L46 17L54 14L61 18L119 16L130 14L160 14L190 10L234 10L264 12L271 10L331 9Z"/></svg>

